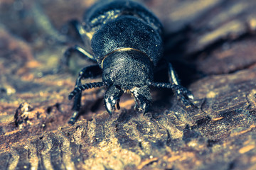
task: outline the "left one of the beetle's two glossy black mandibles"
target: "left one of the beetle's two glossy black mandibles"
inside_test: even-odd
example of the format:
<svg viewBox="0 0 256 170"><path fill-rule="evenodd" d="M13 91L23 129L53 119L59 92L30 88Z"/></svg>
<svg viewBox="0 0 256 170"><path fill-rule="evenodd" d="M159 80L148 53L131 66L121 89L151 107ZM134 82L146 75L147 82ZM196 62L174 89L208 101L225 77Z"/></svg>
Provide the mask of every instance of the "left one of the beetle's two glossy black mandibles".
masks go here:
<svg viewBox="0 0 256 170"><path fill-rule="evenodd" d="M115 111L115 105L117 104L117 109L119 109L119 99L122 96L124 91L119 89L117 86L110 86L105 94L104 103L105 108L110 116L112 115L112 111Z"/></svg>

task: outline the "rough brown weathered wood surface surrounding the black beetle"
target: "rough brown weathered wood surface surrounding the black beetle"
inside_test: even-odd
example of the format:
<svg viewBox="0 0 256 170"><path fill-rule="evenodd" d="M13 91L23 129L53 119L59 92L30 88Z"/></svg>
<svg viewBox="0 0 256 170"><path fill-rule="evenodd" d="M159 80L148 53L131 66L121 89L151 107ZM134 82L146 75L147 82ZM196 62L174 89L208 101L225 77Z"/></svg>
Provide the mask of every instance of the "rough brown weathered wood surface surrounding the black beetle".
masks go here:
<svg viewBox="0 0 256 170"><path fill-rule="evenodd" d="M94 1L1 1L0 169L256 169L256 1L142 2L164 23L164 57L196 107L151 89L145 116L122 96L110 118L105 89L91 89L68 125L74 68L90 63L74 57L80 65L53 74L76 43L60 30Z"/></svg>

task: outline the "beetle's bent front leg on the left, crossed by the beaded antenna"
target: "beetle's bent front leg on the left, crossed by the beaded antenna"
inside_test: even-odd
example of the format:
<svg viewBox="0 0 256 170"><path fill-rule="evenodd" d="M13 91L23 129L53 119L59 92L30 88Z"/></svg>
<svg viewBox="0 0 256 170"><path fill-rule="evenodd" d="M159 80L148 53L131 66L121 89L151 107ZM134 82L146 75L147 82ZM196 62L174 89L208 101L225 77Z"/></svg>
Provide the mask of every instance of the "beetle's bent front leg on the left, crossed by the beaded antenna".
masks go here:
<svg viewBox="0 0 256 170"><path fill-rule="evenodd" d="M81 84L82 79L97 77L100 74L101 74L101 69L100 69L99 65L97 65L97 64L81 69L81 71L78 74L78 78L75 81L75 88L78 88L78 86L82 85ZM73 108L72 108L74 113L73 113L72 117L70 118L70 120L68 122L70 124L74 124L75 120L78 119L78 116L79 116L78 112L79 112L80 106L81 106L82 92L80 91L78 94L75 94L73 96L75 96L74 103L73 103Z"/></svg>

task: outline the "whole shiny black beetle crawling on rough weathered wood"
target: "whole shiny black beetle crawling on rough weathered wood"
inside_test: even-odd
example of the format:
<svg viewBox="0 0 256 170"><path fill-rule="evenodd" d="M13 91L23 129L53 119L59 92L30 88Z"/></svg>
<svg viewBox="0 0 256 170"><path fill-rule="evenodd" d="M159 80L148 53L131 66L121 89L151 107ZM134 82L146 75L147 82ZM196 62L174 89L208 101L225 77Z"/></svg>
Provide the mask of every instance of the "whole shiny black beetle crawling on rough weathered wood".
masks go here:
<svg viewBox="0 0 256 170"><path fill-rule="evenodd" d="M119 109L124 93L134 96L135 106L146 113L151 106L149 87L172 89L181 101L191 105L193 94L180 81L169 63L170 83L154 82L154 69L163 53L163 26L156 16L142 4L131 0L100 1L89 8L82 23L70 21L85 47L69 47L63 61L68 65L73 52L97 64L83 68L68 98L73 102L73 115L68 123L78 118L81 95L85 89L105 86L104 103L107 112ZM82 84L81 79L97 77L102 81Z"/></svg>

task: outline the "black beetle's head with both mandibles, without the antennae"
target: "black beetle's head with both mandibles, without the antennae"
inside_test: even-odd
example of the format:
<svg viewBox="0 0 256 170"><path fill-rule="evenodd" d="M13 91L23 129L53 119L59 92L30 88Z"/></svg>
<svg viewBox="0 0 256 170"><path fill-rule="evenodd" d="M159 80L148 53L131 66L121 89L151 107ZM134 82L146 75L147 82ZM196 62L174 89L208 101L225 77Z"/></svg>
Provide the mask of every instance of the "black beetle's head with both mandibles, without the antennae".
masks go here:
<svg viewBox="0 0 256 170"><path fill-rule="evenodd" d="M153 79L154 65L149 57L138 50L117 50L102 61L102 81L107 86L105 107L111 114L119 108L123 93L134 96L135 108L144 113L151 104L151 94L146 81Z"/></svg>

